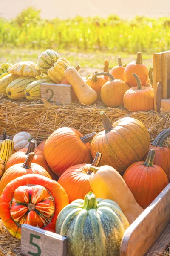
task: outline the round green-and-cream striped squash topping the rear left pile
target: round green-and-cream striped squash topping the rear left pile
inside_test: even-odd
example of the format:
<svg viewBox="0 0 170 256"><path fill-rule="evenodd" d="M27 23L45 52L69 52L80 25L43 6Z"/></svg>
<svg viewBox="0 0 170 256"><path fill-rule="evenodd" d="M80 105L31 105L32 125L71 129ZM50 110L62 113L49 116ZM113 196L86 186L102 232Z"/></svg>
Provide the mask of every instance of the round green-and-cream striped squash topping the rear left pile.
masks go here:
<svg viewBox="0 0 170 256"><path fill-rule="evenodd" d="M38 57L38 67L42 73L47 74L47 71L54 66L54 63L57 62L59 58L61 57L58 52L46 50Z"/></svg>

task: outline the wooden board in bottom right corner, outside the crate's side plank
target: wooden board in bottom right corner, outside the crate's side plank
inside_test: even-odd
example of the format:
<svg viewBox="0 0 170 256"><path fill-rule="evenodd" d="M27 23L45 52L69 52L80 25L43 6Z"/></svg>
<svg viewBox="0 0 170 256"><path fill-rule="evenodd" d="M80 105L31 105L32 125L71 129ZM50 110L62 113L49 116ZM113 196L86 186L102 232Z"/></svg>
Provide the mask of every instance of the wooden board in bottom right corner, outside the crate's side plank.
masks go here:
<svg viewBox="0 0 170 256"><path fill-rule="evenodd" d="M170 224L147 252L146 256L155 256L156 252L164 252L170 244Z"/></svg>

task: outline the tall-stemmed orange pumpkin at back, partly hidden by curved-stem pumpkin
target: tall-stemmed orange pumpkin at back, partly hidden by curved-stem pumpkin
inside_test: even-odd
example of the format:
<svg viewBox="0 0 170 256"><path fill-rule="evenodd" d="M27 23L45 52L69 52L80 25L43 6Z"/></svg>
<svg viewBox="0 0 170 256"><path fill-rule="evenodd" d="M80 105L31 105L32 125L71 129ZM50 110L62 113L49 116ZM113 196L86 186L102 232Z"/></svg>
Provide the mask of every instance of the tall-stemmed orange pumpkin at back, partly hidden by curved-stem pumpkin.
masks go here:
<svg viewBox="0 0 170 256"><path fill-rule="evenodd" d="M137 59L136 61L130 62L126 67L124 71L124 81L125 83L131 88L137 86L137 81L133 76L133 73L135 73L137 76L139 76L142 86L145 86L147 84L149 75L148 75L148 68L147 66L142 63L142 53L137 53Z"/></svg>

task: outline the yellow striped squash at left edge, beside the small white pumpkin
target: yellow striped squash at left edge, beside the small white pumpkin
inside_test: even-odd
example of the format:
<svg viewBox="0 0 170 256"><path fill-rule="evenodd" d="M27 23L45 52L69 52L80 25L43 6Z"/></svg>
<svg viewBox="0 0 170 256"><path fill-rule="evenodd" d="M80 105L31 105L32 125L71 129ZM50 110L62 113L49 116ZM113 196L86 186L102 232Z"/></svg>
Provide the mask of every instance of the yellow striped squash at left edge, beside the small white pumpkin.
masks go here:
<svg viewBox="0 0 170 256"><path fill-rule="evenodd" d="M6 162L8 161L8 158L11 157L13 152L14 152L13 140L10 140L10 139L3 140L1 144L0 158L4 161L4 166L6 166Z"/></svg>

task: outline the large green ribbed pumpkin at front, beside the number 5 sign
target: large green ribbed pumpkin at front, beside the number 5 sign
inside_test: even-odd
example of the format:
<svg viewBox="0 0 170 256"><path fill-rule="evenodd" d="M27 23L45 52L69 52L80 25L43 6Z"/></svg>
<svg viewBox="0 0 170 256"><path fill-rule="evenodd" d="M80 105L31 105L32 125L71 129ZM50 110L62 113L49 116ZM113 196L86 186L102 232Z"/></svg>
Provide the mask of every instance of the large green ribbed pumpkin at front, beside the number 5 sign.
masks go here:
<svg viewBox="0 0 170 256"><path fill-rule="evenodd" d="M59 213L56 233L67 237L69 256L119 256L129 222L112 200L96 199L92 192Z"/></svg>

